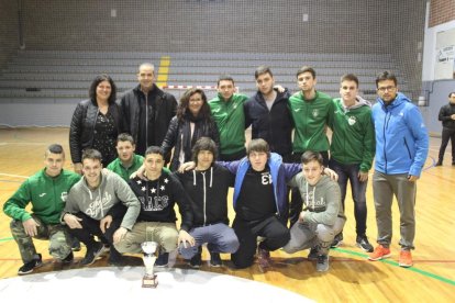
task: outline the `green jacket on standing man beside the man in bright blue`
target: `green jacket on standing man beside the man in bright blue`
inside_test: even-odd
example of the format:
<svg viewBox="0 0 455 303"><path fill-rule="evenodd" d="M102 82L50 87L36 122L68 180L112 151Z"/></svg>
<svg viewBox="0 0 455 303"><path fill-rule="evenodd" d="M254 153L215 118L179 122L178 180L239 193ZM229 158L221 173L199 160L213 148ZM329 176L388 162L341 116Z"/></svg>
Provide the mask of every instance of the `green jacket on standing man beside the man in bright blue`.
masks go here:
<svg viewBox="0 0 455 303"><path fill-rule="evenodd" d="M368 171L376 148L370 103L357 97L351 108L345 108L340 98L333 104L335 114L329 124L333 130L331 158L344 165L359 164L362 171Z"/></svg>

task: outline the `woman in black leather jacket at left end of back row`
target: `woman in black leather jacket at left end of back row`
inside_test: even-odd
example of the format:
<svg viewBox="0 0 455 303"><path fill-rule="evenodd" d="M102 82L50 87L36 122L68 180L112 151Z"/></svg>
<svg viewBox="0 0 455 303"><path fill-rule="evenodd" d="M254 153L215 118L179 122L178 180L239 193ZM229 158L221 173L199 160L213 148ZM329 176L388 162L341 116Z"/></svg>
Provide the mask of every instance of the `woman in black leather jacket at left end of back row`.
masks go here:
<svg viewBox="0 0 455 303"><path fill-rule="evenodd" d="M89 96L90 99L77 104L69 128L69 149L78 173L81 173L81 155L86 148L99 150L104 167L113 161L116 158L116 136L123 131L112 78L97 76L90 85Z"/></svg>

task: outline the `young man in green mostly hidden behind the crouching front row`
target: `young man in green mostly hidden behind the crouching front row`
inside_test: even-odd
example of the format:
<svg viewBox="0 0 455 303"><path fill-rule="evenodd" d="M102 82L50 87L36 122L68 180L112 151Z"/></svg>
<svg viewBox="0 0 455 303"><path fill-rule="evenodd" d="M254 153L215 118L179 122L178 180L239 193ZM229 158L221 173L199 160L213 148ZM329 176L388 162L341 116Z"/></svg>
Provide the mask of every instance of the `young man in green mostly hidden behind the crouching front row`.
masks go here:
<svg viewBox="0 0 455 303"><path fill-rule="evenodd" d="M120 134L116 138L116 154L119 157L108 165L108 169L123 178L126 182L130 176L143 164L144 157L134 154L136 145L129 134Z"/></svg>

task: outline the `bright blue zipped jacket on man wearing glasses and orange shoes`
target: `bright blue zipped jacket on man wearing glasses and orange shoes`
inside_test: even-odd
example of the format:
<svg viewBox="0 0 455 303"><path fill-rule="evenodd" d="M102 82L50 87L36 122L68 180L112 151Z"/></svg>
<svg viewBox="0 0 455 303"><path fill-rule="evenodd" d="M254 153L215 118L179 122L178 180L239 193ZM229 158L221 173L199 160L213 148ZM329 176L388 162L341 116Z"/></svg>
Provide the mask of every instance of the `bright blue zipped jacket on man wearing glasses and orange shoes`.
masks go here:
<svg viewBox="0 0 455 303"><path fill-rule="evenodd" d="M399 92L388 106L378 98L371 119L376 132L375 169L419 177L429 153L429 134L418 106Z"/></svg>

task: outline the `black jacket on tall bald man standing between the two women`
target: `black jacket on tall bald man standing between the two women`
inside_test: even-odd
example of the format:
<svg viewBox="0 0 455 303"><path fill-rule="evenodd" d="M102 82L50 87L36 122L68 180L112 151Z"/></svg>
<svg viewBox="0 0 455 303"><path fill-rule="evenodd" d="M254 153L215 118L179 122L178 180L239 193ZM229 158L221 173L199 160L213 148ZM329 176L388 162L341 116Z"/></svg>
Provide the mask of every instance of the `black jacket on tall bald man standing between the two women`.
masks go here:
<svg viewBox="0 0 455 303"><path fill-rule="evenodd" d="M148 144L160 146L169 127L169 122L177 112L176 98L167 92L164 92L158 87L148 92L148 96L155 96L153 100L148 100L154 111L153 116L149 116L149 130L154 132L155 142ZM130 133L134 142L137 144L137 135L140 127L140 104L145 102L145 94L141 91L141 86L126 91L120 102L125 131ZM145 150L136 150L137 154L143 155Z"/></svg>

